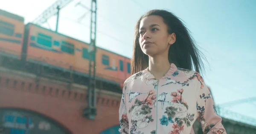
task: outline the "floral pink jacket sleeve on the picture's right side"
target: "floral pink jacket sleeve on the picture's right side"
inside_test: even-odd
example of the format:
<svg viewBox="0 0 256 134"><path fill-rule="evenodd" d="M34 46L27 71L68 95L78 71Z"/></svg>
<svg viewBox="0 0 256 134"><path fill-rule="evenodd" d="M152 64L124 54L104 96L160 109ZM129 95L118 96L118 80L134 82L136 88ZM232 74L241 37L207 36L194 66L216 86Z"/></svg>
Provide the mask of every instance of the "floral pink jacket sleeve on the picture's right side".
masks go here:
<svg viewBox="0 0 256 134"><path fill-rule="evenodd" d="M198 120L204 134L227 134L221 121L222 118L218 116L214 101L209 91L209 88L204 82L204 79L199 73L195 73L195 88L197 96L197 113Z"/></svg>

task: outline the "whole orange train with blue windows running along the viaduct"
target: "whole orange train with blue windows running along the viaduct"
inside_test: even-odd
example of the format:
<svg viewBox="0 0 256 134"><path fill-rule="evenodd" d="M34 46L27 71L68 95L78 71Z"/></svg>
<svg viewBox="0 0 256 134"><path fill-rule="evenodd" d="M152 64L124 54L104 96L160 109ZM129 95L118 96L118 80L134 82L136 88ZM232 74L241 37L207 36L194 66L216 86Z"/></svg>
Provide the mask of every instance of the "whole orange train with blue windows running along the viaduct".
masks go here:
<svg viewBox="0 0 256 134"><path fill-rule="evenodd" d="M0 55L88 76L89 43L51 31L0 9ZM96 80L123 86L131 59L97 47Z"/></svg>

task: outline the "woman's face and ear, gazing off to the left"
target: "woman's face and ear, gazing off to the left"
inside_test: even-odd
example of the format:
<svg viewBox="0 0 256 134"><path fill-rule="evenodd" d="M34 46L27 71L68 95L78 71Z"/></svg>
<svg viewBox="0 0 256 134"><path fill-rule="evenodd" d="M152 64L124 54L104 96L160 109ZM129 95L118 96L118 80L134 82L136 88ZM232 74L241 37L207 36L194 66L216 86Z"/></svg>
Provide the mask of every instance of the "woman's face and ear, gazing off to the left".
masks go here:
<svg viewBox="0 0 256 134"><path fill-rule="evenodd" d="M144 17L140 21L140 47L148 56L168 53L169 47L175 42L175 34L168 33L163 18L156 15Z"/></svg>

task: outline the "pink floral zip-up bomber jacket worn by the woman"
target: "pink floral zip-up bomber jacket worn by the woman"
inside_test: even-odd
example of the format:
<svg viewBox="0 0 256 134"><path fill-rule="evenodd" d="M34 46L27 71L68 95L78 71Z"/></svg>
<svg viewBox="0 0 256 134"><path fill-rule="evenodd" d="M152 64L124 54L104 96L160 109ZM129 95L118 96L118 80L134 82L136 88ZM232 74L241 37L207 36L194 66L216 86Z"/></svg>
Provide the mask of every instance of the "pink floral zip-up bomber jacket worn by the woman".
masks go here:
<svg viewBox="0 0 256 134"><path fill-rule="evenodd" d="M196 119L204 134L226 134L199 73L171 64L160 80L147 68L124 82L119 108L121 134L194 134Z"/></svg>

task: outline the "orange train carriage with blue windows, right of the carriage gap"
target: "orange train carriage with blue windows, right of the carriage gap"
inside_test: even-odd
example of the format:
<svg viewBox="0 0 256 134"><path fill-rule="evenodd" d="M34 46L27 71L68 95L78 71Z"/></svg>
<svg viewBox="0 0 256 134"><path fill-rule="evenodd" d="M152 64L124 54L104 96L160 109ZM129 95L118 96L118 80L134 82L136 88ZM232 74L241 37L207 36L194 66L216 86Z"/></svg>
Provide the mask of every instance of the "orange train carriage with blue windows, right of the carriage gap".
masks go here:
<svg viewBox="0 0 256 134"><path fill-rule="evenodd" d="M87 75L89 70L89 44L65 36L38 25L29 23L25 26L28 61L48 64L69 70L72 65L74 73ZM26 40L25 39L25 40ZM32 56L32 57L30 57ZM54 59L55 61L49 60ZM61 64L61 63L67 63ZM130 76L130 59L108 50L97 48L96 77L111 83L121 84Z"/></svg>

